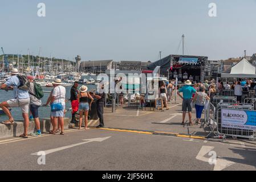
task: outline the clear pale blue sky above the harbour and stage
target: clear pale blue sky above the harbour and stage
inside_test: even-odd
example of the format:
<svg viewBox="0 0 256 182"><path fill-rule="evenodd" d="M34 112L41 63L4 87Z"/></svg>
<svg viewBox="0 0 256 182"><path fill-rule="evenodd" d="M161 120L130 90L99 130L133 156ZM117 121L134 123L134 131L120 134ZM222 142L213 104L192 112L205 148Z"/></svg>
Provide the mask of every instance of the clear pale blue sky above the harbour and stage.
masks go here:
<svg viewBox="0 0 256 182"><path fill-rule="evenodd" d="M37 16L39 2L46 17ZM217 4L217 17L208 5ZM6 53L83 60L151 60L177 52L227 59L256 53L256 0L1 0Z"/></svg>

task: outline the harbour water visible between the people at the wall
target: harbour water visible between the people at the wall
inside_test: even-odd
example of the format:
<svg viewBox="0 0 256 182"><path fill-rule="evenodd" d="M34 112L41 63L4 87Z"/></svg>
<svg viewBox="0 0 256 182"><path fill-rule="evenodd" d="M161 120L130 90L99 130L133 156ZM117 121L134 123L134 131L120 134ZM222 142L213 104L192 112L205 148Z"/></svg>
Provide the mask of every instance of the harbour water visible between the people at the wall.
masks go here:
<svg viewBox="0 0 256 182"><path fill-rule="evenodd" d="M81 85L79 85L79 87L80 86ZM86 85L86 86L88 86L88 92L96 89L96 85ZM71 89L71 86L66 87L66 100L70 99L70 89ZM51 91L52 88L43 88L43 90ZM46 103L49 94L50 93L44 93L44 97L42 98L42 104ZM0 102L10 100L10 99L13 99L13 91L6 92L5 90L0 90ZM71 103L70 103L70 101L68 101L66 103L66 109L68 110L68 109L70 109L70 107L71 107ZM13 117L16 121L23 119L22 114L21 114L21 109L19 109L18 107L12 108L11 114L13 115ZM48 118L49 116L50 116L50 107L40 107L39 108L39 117L40 118ZM66 117L71 117L71 111L67 112ZM6 117L6 115L0 115L0 122L5 121L6 119L8 119Z"/></svg>

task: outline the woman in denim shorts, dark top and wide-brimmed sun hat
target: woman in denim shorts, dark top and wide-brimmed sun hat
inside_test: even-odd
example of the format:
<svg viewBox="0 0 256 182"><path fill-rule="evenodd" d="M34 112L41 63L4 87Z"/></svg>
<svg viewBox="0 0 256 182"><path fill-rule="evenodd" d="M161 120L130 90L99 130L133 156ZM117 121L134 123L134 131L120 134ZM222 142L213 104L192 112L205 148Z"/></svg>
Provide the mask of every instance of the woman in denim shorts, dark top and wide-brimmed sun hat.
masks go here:
<svg viewBox="0 0 256 182"><path fill-rule="evenodd" d="M83 115L84 115L84 124L85 129L88 130L88 112L89 109L91 109L91 104L94 101L94 98L90 95L90 93L87 93L87 86L81 86L79 89L80 93L78 95L78 101L79 101L79 130L82 129L82 122L83 122ZM91 100L89 104L89 99Z"/></svg>

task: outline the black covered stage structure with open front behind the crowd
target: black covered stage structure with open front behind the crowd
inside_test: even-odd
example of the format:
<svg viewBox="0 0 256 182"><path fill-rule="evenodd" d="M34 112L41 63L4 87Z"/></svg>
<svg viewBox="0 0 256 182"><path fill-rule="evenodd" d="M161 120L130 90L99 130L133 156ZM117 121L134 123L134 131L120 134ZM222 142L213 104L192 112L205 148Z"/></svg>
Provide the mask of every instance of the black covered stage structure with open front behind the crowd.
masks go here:
<svg viewBox="0 0 256 182"><path fill-rule="evenodd" d="M188 80L191 75L194 82L203 82L206 69L208 68L208 57L169 55L148 65L148 69L153 71L157 66L161 67L160 75L168 77L169 79L178 77L179 82L184 82L184 80ZM187 78L184 73L185 75L186 73L188 74Z"/></svg>

